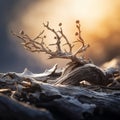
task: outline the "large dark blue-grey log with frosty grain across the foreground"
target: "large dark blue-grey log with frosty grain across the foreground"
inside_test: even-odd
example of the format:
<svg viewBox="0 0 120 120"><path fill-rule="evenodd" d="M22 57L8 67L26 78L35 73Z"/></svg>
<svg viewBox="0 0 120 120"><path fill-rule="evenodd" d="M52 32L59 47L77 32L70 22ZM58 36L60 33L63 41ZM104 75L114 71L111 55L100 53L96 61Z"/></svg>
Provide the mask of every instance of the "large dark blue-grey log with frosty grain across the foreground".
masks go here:
<svg viewBox="0 0 120 120"><path fill-rule="evenodd" d="M120 118L120 92L107 94L82 87L38 84L39 91L26 88L15 96L19 94L20 98L26 98L25 102L49 110L56 120Z"/></svg>

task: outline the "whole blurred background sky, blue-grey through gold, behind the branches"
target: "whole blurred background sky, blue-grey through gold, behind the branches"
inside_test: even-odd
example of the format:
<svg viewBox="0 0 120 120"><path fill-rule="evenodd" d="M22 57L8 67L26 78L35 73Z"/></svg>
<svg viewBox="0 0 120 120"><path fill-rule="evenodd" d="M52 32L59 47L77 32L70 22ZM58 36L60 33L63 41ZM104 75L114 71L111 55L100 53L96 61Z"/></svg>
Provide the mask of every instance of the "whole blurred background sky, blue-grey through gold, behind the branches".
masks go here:
<svg viewBox="0 0 120 120"><path fill-rule="evenodd" d="M120 0L0 0L0 72L22 72L24 68L41 72L64 60L47 60L47 55L26 51L11 34L24 30L34 38L43 30L42 23L58 29L75 40L75 21L80 20L82 37L90 48L86 56L101 65L120 56ZM54 39L48 37L48 43ZM77 49L77 48L76 48Z"/></svg>

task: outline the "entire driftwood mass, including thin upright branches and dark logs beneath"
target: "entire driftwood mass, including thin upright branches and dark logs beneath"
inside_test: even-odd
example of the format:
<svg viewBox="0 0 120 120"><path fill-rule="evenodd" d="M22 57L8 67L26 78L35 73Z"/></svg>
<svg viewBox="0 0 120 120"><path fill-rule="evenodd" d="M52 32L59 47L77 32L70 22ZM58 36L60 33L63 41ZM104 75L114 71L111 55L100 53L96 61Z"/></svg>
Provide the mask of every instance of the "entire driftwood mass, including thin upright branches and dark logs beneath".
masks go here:
<svg viewBox="0 0 120 120"><path fill-rule="evenodd" d="M35 38L24 31L13 33L28 51L43 52L49 55L49 59L69 59L71 62L61 71L55 65L40 74L27 69L23 73L1 73L0 93L8 97L0 95L0 119L120 119L120 69L104 70L92 64L83 54L89 44L81 36L80 21L76 20L75 25L77 31L73 43L64 34L62 23L59 23L58 30L53 29L49 22L43 24L54 35L54 43L49 45L45 43L45 30ZM76 43L79 47L73 51ZM89 85L81 84L83 81Z"/></svg>

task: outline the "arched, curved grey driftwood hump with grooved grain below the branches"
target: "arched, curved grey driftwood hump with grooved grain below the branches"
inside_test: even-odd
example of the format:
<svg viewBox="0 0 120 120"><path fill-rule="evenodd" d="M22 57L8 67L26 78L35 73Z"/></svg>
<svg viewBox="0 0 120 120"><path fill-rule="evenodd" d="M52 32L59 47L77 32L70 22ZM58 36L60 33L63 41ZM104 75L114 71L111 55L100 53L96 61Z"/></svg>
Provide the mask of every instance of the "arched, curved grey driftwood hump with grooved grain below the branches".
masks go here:
<svg viewBox="0 0 120 120"><path fill-rule="evenodd" d="M80 85L83 80L94 85L107 85L112 82L106 77L106 73L102 69L93 64L86 64L58 78L55 84Z"/></svg>

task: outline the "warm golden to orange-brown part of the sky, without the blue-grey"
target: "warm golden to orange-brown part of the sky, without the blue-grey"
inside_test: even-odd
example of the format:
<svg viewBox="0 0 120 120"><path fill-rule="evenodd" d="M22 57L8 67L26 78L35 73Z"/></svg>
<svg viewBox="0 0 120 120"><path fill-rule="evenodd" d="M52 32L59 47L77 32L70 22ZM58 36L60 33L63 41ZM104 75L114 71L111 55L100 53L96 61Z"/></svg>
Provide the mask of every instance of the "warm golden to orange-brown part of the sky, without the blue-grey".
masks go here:
<svg viewBox="0 0 120 120"><path fill-rule="evenodd" d="M119 8L120 0L38 0L24 11L20 19L23 29L31 37L42 30L43 22L50 21L55 29L62 22L71 41L74 40L75 20L79 19L82 36L91 45L87 54L96 64L101 64L120 53ZM54 40L49 39L48 42ZM42 58L37 55L37 59L52 64Z"/></svg>

